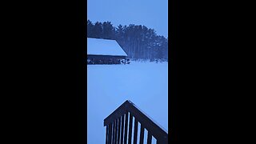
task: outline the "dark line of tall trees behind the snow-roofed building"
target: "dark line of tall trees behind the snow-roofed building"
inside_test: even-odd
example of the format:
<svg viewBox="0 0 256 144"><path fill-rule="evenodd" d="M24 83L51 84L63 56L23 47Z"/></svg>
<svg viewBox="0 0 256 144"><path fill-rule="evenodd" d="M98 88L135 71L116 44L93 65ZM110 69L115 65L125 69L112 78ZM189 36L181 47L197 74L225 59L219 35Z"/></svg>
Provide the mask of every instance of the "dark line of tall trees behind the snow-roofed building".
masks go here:
<svg viewBox="0 0 256 144"><path fill-rule="evenodd" d="M113 26L111 22L87 20L87 38L114 39L126 51L128 58L137 60L168 59L168 38L142 25Z"/></svg>

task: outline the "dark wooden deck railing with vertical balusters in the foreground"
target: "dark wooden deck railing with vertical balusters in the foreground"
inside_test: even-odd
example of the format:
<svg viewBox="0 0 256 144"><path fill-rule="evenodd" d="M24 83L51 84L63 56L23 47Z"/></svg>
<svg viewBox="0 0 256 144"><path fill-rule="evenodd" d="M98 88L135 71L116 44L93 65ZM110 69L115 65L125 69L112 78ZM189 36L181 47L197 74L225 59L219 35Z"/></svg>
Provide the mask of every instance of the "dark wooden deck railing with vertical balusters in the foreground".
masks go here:
<svg viewBox="0 0 256 144"><path fill-rule="evenodd" d="M104 119L104 126L106 126L106 144L127 144L127 138L128 144L131 144L132 135L134 135L133 143L137 144L138 122L141 125L139 144L142 144L144 141L145 129L148 131L146 138L147 144L152 142L152 136L156 139L157 144L168 143L167 132L146 116L142 110L139 110L133 102L127 100ZM132 131L134 131L133 134Z"/></svg>

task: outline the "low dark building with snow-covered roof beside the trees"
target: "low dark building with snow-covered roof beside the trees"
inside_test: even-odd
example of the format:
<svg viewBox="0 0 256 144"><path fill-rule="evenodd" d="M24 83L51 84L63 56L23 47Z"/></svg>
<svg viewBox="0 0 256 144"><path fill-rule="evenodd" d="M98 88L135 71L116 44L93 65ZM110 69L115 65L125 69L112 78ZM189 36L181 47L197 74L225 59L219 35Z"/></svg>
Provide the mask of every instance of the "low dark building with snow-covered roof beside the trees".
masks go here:
<svg viewBox="0 0 256 144"><path fill-rule="evenodd" d="M126 63L126 57L126 52L115 40L87 38L87 64Z"/></svg>

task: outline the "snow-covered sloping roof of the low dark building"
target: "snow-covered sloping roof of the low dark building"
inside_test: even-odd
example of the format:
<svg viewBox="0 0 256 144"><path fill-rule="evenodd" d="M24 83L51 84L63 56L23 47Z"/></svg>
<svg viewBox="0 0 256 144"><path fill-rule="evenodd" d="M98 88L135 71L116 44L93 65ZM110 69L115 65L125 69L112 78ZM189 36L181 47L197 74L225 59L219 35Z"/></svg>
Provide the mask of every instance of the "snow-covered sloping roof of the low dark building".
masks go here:
<svg viewBox="0 0 256 144"><path fill-rule="evenodd" d="M99 38L87 38L87 54L127 56L115 40Z"/></svg>

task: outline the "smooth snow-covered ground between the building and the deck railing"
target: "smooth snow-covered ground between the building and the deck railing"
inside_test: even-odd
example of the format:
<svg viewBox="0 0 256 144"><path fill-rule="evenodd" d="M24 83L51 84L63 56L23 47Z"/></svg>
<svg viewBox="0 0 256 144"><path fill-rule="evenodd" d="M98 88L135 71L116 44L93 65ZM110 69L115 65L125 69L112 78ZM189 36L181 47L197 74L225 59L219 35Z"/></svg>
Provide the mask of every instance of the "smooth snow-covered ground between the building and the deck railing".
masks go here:
<svg viewBox="0 0 256 144"><path fill-rule="evenodd" d="M87 143L106 141L103 120L126 100L168 130L168 63L87 65Z"/></svg>

